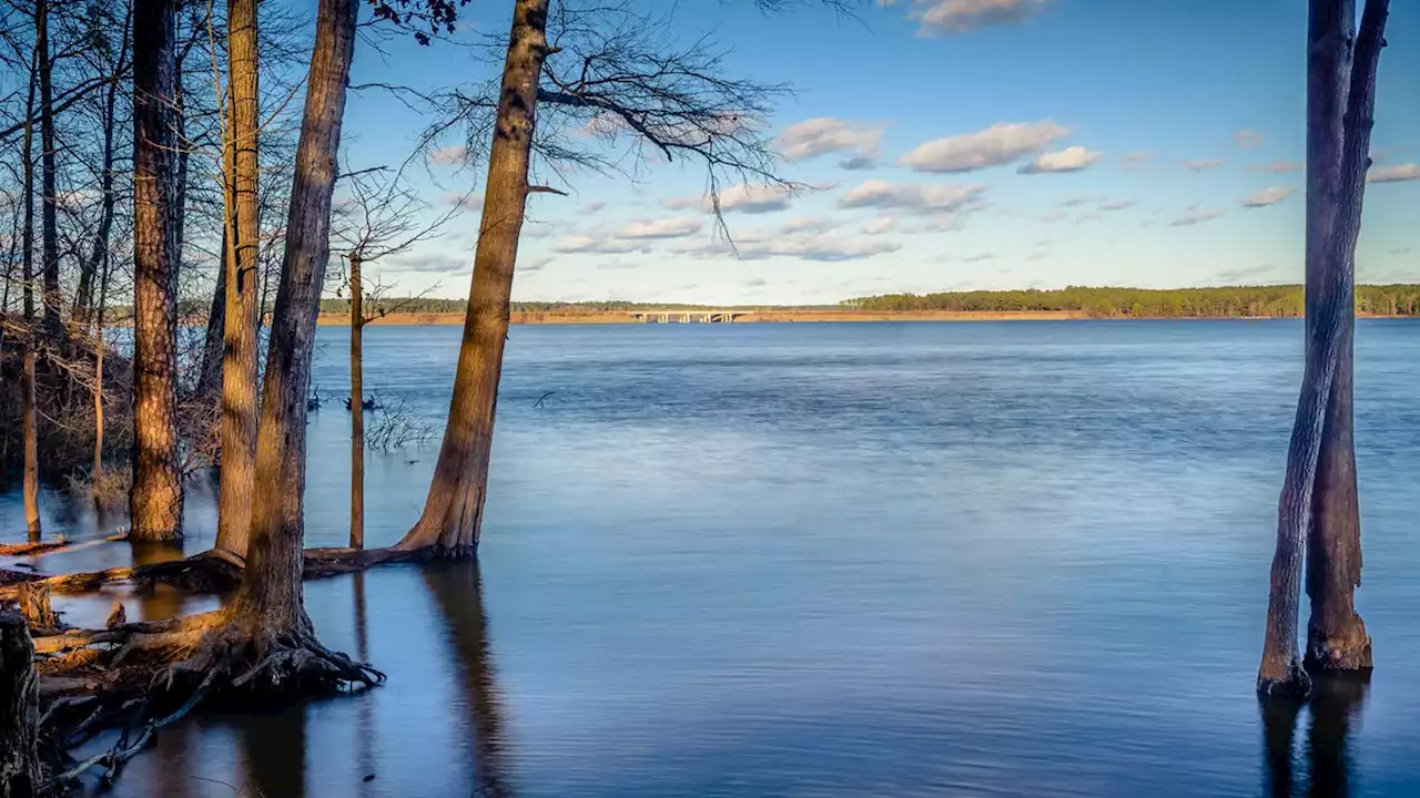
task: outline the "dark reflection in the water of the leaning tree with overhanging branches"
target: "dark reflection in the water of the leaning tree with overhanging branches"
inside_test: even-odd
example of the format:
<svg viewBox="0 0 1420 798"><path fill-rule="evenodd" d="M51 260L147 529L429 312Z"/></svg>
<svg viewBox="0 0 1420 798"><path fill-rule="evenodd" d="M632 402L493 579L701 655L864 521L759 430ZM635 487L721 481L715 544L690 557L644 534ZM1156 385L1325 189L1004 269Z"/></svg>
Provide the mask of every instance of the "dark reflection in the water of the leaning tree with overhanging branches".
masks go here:
<svg viewBox="0 0 1420 798"><path fill-rule="evenodd" d="M473 713L474 795L513 795L504 775L503 718L494 684L488 626L483 615L483 578L479 562L456 561L430 565L425 581L449 622L449 642L463 670L469 710Z"/></svg>

